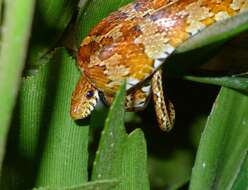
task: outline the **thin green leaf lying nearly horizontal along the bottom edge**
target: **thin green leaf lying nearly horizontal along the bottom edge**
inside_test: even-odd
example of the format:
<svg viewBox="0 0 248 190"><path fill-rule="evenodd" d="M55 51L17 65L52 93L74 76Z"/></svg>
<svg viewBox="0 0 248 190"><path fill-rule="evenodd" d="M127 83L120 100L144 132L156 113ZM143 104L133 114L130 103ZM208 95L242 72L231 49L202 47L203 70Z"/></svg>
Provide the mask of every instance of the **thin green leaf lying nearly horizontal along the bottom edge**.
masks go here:
<svg viewBox="0 0 248 190"><path fill-rule="evenodd" d="M119 184L118 180L98 180L93 182L87 182L82 185L72 186L72 187L40 187L33 188L33 190L111 190L114 189Z"/></svg>

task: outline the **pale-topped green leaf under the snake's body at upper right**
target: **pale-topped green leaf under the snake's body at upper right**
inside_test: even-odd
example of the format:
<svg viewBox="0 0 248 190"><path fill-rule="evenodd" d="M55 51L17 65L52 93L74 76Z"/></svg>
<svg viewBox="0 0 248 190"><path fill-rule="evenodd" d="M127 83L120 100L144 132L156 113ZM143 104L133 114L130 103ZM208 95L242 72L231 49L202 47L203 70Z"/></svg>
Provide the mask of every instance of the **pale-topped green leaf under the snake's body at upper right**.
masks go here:
<svg viewBox="0 0 248 190"><path fill-rule="evenodd" d="M176 53L182 53L197 49L218 41L231 38L248 29L248 11L217 22L176 49Z"/></svg>

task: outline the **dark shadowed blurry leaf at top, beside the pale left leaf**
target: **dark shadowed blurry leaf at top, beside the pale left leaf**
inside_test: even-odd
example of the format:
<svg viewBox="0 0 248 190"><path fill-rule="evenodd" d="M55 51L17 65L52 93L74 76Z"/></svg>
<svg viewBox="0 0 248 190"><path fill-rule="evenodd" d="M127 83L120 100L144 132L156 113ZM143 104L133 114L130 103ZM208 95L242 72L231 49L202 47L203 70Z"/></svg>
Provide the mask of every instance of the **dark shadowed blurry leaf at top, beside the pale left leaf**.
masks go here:
<svg viewBox="0 0 248 190"><path fill-rule="evenodd" d="M30 66L55 47L77 11L79 0L37 0L29 48Z"/></svg>

